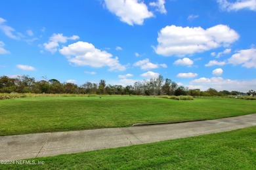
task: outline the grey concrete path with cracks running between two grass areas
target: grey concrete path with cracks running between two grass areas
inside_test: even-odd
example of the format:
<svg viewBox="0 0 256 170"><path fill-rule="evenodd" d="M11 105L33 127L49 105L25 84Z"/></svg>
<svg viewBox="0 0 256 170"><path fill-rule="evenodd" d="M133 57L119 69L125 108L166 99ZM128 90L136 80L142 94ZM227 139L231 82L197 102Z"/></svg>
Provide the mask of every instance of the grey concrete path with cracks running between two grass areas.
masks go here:
<svg viewBox="0 0 256 170"><path fill-rule="evenodd" d="M256 114L181 124L1 136L0 160L20 160L153 143L250 126L256 126Z"/></svg>

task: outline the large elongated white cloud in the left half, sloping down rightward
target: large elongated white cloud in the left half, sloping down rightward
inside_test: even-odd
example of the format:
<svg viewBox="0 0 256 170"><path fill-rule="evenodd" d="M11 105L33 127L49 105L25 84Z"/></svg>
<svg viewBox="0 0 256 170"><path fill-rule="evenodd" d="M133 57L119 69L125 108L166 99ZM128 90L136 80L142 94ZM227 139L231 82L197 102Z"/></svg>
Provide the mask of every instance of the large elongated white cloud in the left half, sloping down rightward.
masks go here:
<svg viewBox="0 0 256 170"><path fill-rule="evenodd" d="M110 67L110 71L124 71L125 66L119 63L118 58L113 58L112 54L99 50L89 42L75 42L64 46L59 50L60 54L67 56L68 61L75 65L89 65L91 67Z"/></svg>

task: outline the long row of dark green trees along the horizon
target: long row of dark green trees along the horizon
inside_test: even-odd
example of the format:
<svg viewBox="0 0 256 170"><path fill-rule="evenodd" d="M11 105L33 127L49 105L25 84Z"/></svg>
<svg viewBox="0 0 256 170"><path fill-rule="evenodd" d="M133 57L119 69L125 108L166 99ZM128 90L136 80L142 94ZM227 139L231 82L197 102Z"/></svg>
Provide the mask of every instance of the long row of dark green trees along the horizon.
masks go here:
<svg viewBox="0 0 256 170"><path fill-rule="evenodd" d="M135 82L133 85L106 85L106 80L98 83L85 82L81 86L71 82L61 83L56 79L39 80L28 75L10 78L0 76L0 93L83 93L83 94L108 94L108 95L192 95L192 96L216 96L216 95L255 95L254 90L247 93L223 90L218 92L214 88L206 91L200 89L188 89L179 86L169 78L150 78L142 82Z"/></svg>

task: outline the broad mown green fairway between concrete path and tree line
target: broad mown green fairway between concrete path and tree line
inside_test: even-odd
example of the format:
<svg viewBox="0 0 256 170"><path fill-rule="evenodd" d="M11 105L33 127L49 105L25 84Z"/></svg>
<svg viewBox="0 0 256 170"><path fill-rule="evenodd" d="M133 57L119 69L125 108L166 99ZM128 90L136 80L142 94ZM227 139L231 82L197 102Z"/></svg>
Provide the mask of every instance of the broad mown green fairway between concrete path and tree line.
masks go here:
<svg viewBox="0 0 256 170"><path fill-rule="evenodd" d="M126 127L137 123L215 119L256 112L256 101L158 97L28 97L0 101L0 135Z"/></svg>

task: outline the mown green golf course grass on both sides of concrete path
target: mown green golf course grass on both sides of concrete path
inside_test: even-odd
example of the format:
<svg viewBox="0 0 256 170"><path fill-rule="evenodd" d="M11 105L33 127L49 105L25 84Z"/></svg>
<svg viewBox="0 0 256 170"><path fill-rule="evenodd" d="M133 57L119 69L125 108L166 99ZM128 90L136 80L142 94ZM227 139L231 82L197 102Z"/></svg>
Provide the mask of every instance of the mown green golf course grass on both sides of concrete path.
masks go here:
<svg viewBox="0 0 256 170"><path fill-rule="evenodd" d="M133 124L218 119L256 112L255 100L145 96L24 97L0 100L0 135L129 127ZM25 160L0 169L253 169L256 127ZM32 163L31 163L32 162ZM36 162L33 164L33 162ZM41 163L37 163L41 162ZM43 164L42 164L43 163Z"/></svg>

